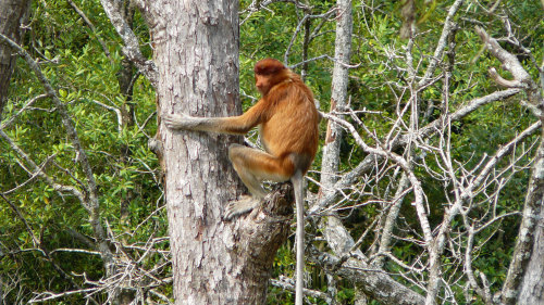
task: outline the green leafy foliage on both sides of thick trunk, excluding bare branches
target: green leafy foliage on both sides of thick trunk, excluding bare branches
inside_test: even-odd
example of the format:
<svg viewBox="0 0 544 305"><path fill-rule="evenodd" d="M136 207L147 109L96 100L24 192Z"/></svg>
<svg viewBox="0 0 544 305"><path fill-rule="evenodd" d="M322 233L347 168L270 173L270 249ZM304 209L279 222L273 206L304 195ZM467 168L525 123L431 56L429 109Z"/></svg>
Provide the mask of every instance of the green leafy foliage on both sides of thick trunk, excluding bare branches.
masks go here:
<svg viewBox="0 0 544 305"><path fill-rule="evenodd" d="M75 1L94 23L97 31L92 31L73 11L66 1L34 1L29 30L23 45L33 58L39 60L45 76L55 88L59 98L66 105L78 137L86 150L95 173L100 193L100 208L108 229L118 238L128 243L143 244L149 237L166 236L166 219L161 209L161 190L158 162L147 149L147 140L156 132L153 112L156 111L154 92L144 77L137 77L134 92L129 99L123 94L119 74L123 68L123 55L119 35L111 26L98 0ZM240 1L240 9L247 8L252 1ZM335 5L335 1L302 1L310 4L311 14L324 14ZM351 64L358 65L350 69L348 94L350 105L355 110L366 110L358 114L366 126L375 132L379 139L387 137L391 127L406 105L409 97L401 89L407 85L408 65L404 51L406 40L398 37L401 26L401 1L354 1L354 38ZM424 125L436 119L445 111L455 111L474 98L497 90L495 82L489 77L487 68L499 67L496 59L482 50L482 43L473 30L474 23L485 25L494 37L506 37L504 21L494 14L487 14L483 8L493 5L496 1L470 2L462 13L455 17L459 29L456 34L455 67L450 71L448 90L448 107L443 103L445 84L442 80L433 82L419 92L418 99L423 107L433 103L435 109L424 117L420 110L419 124ZM421 34L415 40L412 62L420 69L429 66L432 54L440 38L447 10L453 1L416 1L417 26ZM370 5L373 5L372 8ZM426 7L425 7L426 5ZM528 47L535 59L542 59L544 49L544 21L539 1L500 1L502 13L507 14L514 24L516 37ZM319 28L319 35L310 41L305 54L304 30L294 36L300 24L304 11L296 9L292 2L274 2L250 14L240 15L245 23L240 27L240 92L258 98L254 86L252 65L263 58L287 58L289 65L302 60L327 54L334 56L335 20L334 15L322 21L310 18L310 31ZM139 13L134 15L134 29L140 39L144 54L151 56L148 28ZM104 54L99 40L106 42L110 58ZM293 41L293 42L292 42ZM531 58L523 54L514 43L500 40L504 48L518 55L522 64L535 79L537 69L531 64ZM288 51L287 51L288 49ZM287 54L287 56L286 56ZM321 110L330 109L331 81L333 62L326 59L308 62L307 66L298 65L295 71L306 71L306 82L313 90L316 99L321 102ZM394 68L399 67L399 68ZM437 74L447 69L447 59L440 63ZM134 76L135 68L132 71ZM499 74L510 77L504 71ZM17 114L32 99L44 93L44 89L34 73L24 61L17 60L11 86L10 98L2 113L2 124ZM243 96L244 109L248 109L252 99ZM456 161L473 168L485 156L496 152L497 148L510 141L520 130L527 128L535 119L519 103L519 97L502 103L481 107L460 122L453 124L449 139L452 154ZM400 103L397 103L400 101ZM119 125L119 113L128 113L135 124L127 117ZM408 115L403 118L408 120ZM151 118L145 126L141 124ZM325 122L322 123L324 138ZM62 117L55 112L49 98L37 99L22 112L14 123L3 131L23 150L38 166L44 166L46 173L57 183L73 186L79 191L81 183L87 183L77 155L66 137ZM375 144L363 130L360 130L367 143ZM527 147L535 140L526 141ZM430 145L437 145L437 139L431 139ZM528 148L531 152L531 148ZM522 164L528 164L531 153L521 155L521 149L515 156L521 157ZM401 152L400 152L401 153ZM422 150L415 150L419 164L425 164L436 173L441 171L435 155ZM341 170L349 170L357 166L366 154L358 148L351 137L344 137L341 147ZM318 154L313 169L309 176L319 180ZM507 165L503 161L499 167ZM385 167L386 165L384 165ZM10 144L0 140L0 192L13 190L7 194L10 202L21 212L28 227L14 208L0 199L0 280L7 277L17 280L17 288L8 293L7 303L24 303L32 297L33 292L69 291L84 283L83 275L89 280L100 280L104 276L103 262L96 254L83 252L54 251L60 249L79 249L94 251L85 238L92 237L89 215L81 202L71 195L61 194L46 183L44 179L29 179L33 175L27 162L17 154ZM30 173L28 173L30 171ZM376 217L383 215L384 208L372 203L372 195L364 193L371 188L373 195L391 192L392 183L398 179L392 168L384 170L383 178L370 186L355 190L353 202L360 205L349 212L341 211L343 221L354 238L361 236L372 225ZM426 200L430 203L430 221L434 226L442 221L444 203L448 201L452 186L436 182L421 167L415 173L422 182ZM372 173L374 175L375 173ZM372 178L370 178L372 179ZM363 185L363 183L361 183ZM510 177L508 185L500 190L499 200L495 203L493 213L506 215L519 211L527 192L528 170L519 170ZM319 186L310 183L309 190L317 192ZM360 193L357 193L360 191ZM403 262L419 259L422 250L410 239L418 238L421 229L412 206L406 204L412 199L409 194L400 209L399 225L395 234L399 237L392 253ZM480 195L474 202L484 201ZM370 202L366 204L366 202ZM158 209L159 208L159 209ZM156 211L158 209L158 211ZM490 211L477 208L471 212L470 219L486 220ZM516 241L519 217L504 217L500 221L490 225L475 237L479 244L473 255L473 268L484 272L490 280L491 290L500 289L506 277L506 268L511 257L511 249ZM462 219L455 218L452 228L463 230ZM83 237L83 238L82 238ZM34 238L40 242L41 249ZM370 250L380 238L378 232L369 232L361 244L362 250ZM401 240L404 239L404 240ZM317 242L318 243L318 242ZM466 246L467 240L459 239L459 246ZM319 244L319 246L322 246ZM157 245L159 250L169 249L168 242ZM326 251L323 250L323 251ZM51 252L51 253L47 253ZM128 251L131 255L140 257L140 252ZM151 268L156 264L164 264L159 255L149 255L141 260L143 266ZM449 268L450 259L444 259L444 272L452 278L458 278L454 293L458 304L462 304L463 288L467 279L462 270ZM294 276L294 253L290 243L282 245L274 262L273 275ZM62 272L70 275L67 280ZM400 266L388 260L386 271L398 275ZM310 275L309 288L322 292L327 291L324 274L319 268L307 265ZM170 267L160 270L161 276L171 272ZM400 276L394 276L398 281L420 291L412 282ZM338 279L336 301L338 304L353 304L355 291L353 283ZM164 285L161 291L171 295L171 285ZM21 291L21 294L17 294ZM23 295L23 296L21 296ZM104 302L103 295L97 296ZM268 304L293 304L293 294L276 287L270 287ZM324 304L323 300L310 300L313 304ZM62 298L62 304L81 304L84 302L78 294ZM481 304L474 295L473 304ZM60 304L60 303L49 303ZM378 304L371 301L371 304Z"/></svg>

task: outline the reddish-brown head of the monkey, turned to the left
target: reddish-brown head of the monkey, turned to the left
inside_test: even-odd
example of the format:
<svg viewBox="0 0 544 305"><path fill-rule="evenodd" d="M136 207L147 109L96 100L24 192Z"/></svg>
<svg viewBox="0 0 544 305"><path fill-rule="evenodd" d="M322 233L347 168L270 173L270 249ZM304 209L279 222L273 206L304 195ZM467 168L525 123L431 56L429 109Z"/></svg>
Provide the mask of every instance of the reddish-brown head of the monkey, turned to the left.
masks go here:
<svg viewBox="0 0 544 305"><path fill-rule="evenodd" d="M288 78L288 68L274 59L260 60L255 64L255 86L265 96L274 85Z"/></svg>

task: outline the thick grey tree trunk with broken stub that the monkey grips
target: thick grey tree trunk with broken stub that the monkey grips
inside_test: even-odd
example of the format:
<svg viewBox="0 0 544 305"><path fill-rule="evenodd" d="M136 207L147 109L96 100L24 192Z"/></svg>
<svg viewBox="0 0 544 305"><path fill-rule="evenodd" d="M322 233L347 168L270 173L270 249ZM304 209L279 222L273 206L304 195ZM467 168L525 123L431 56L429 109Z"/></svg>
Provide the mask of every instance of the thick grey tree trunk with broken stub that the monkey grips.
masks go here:
<svg viewBox="0 0 544 305"><path fill-rule="evenodd" d="M240 114L238 1L140 7L154 41L159 115ZM267 213L223 221L226 203L242 193L227 147L242 139L159 128L176 304L263 304L276 250L289 233L290 186L275 192Z"/></svg>

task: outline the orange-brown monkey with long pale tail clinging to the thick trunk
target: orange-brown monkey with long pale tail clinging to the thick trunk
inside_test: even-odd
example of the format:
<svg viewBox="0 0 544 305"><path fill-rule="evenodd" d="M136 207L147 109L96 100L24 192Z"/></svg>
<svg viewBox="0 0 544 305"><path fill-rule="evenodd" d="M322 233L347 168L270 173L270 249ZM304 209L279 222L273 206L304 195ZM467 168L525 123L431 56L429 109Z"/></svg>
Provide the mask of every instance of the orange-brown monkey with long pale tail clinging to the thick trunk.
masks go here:
<svg viewBox="0 0 544 305"><path fill-rule="evenodd" d="M225 219L250 212L267 192L263 180L275 182L290 179L297 207L297 284L296 303L302 304L304 272L304 175L318 150L320 114L313 103L311 90L300 77L280 61L264 59L255 65L255 85L262 98L240 116L193 117L163 115L171 129L200 130L245 135L260 127L264 151L239 144L228 148L234 169L251 192L251 196L231 202Z"/></svg>

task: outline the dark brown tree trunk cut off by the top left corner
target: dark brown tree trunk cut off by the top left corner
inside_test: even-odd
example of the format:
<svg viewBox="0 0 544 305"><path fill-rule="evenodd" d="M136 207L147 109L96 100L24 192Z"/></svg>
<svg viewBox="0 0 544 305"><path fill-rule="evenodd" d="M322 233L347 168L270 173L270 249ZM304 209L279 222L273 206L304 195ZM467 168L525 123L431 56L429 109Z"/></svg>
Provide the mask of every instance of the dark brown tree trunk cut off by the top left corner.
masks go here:
<svg viewBox="0 0 544 305"><path fill-rule="evenodd" d="M0 1L0 33L20 43L23 30L21 24L28 16L28 0L2 0ZM0 43L0 118L8 98L11 74L17 59L7 43Z"/></svg>

